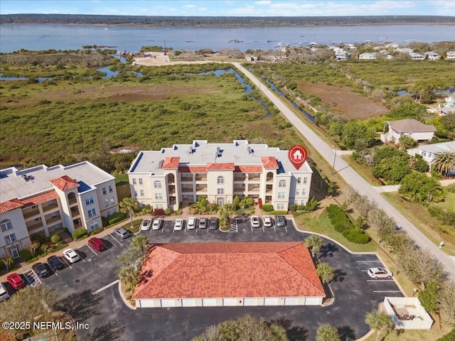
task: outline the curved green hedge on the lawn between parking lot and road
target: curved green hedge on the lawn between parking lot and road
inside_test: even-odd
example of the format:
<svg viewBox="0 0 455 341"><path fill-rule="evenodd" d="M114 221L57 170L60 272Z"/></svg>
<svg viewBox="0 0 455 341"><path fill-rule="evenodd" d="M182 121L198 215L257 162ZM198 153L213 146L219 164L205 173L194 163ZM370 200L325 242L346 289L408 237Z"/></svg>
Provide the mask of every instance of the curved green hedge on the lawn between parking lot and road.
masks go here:
<svg viewBox="0 0 455 341"><path fill-rule="evenodd" d="M326 207L326 211L333 228L336 232L343 234L343 237L348 239L349 242L355 244L367 244L370 242L370 237L362 229L353 226L349 217L341 210L341 207L331 204Z"/></svg>

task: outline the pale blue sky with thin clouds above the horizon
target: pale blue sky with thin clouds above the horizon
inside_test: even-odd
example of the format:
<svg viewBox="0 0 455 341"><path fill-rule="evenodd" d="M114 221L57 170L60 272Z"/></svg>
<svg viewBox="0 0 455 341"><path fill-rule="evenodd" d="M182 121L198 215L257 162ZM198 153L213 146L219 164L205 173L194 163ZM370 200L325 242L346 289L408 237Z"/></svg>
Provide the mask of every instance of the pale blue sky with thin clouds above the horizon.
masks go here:
<svg viewBox="0 0 455 341"><path fill-rule="evenodd" d="M127 16L455 16L454 0L1 0L0 14Z"/></svg>

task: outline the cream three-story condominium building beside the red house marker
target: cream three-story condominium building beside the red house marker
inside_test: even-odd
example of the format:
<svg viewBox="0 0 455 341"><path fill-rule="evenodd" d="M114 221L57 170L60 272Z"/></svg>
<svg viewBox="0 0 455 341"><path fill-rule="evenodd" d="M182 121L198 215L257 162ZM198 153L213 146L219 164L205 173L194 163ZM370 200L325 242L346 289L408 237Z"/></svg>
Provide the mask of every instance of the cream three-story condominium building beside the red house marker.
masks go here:
<svg viewBox="0 0 455 341"><path fill-rule="evenodd" d="M128 171L132 197L142 205L171 210L201 197L218 205L232 203L236 195L288 210L291 203L309 200L311 174L306 162L297 171L287 151L245 140L193 141L140 151Z"/></svg>

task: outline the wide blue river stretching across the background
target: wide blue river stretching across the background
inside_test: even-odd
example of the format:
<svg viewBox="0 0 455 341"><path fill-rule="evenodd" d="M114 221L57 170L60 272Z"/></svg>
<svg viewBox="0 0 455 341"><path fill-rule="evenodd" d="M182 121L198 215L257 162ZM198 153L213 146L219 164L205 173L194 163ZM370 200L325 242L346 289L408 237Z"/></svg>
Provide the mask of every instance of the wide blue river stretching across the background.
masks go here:
<svg viewBox="0 0 455 341"><path fill-rule="evenodd" d="M309 43L377 43L393 41L455 40L455 26L308 26L276 28L141 28L75 25L0 25L0 52L16 50L77 50L82 45L115 46L117 50L137 51L142 46L159 45L174 50L235 48L267 50L277 45ZM237 41L237 42L235 42Z"/></svg>

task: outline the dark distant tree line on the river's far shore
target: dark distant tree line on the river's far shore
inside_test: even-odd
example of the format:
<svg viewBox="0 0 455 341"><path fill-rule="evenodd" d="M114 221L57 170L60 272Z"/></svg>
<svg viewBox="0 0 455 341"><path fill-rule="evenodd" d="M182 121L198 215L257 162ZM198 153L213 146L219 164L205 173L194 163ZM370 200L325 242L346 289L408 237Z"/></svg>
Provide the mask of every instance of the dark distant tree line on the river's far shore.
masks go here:
<svg viewBox="0 0 455 341"><path fill-rule="evenodd" d="M4 14L1 24L127 25L155 27L279 27L444 23L454 16L102 16L82 14Z"/></svg>

